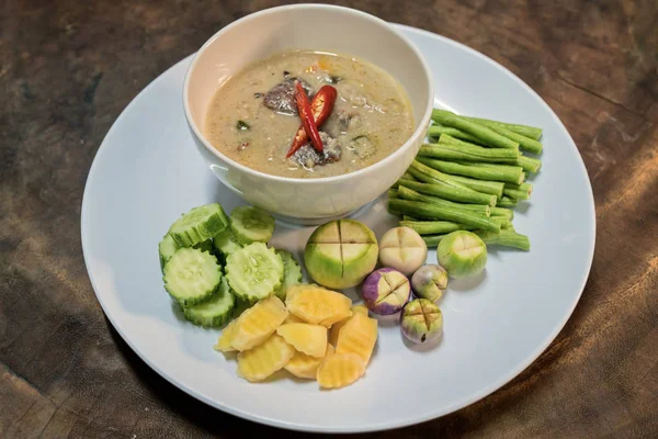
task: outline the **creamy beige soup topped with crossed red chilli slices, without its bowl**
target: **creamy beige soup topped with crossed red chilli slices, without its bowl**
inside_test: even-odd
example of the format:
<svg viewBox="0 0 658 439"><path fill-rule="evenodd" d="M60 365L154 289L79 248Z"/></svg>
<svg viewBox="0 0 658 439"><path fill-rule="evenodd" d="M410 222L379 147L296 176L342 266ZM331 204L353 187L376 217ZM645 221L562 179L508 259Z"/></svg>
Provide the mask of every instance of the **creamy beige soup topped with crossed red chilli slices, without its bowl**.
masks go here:
<svg viewBox="0 0 658 439"><path fill-rule="evenodd" d="M401 86L349 56L291 50L253 64L213 97L209 142L259 171L339 176L389 156L412 134Z"/></svg>

